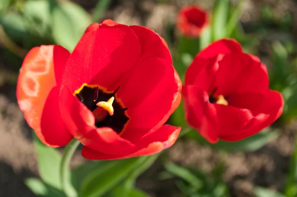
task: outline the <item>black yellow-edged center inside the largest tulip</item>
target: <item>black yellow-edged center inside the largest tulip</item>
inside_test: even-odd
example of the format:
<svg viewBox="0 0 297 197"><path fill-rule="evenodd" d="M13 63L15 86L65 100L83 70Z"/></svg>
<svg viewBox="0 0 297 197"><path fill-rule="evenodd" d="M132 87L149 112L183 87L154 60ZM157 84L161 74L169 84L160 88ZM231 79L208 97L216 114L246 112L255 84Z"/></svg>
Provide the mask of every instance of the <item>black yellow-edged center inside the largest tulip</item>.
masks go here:
<svg viewBox="0 0 297 197"><path fill-rule="evenodd" d="M110 127L120 133L130 118L125 112L128 108L124 108L115 95L119 88L114 92L107 92L101 90L99 86L84 84L74 95L93 112L96 127ZM110 104L112 115L110 110L99 103Z"/></svg>

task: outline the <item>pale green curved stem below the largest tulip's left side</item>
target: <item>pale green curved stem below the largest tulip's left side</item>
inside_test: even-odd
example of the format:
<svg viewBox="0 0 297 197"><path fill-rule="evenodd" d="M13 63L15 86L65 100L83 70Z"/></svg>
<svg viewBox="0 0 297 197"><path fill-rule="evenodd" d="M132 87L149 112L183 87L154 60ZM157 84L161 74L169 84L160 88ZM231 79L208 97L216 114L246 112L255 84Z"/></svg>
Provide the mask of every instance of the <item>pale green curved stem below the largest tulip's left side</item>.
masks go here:
<svg viewBox="0 0 297 197"><path fill-rule="evenodd" d="M67 197L77 197L77 192L71 185L69 163L79 144L80 142L78 140L71 140L65 147L61 160L60 180L62 184L62 190Z"/></svg>

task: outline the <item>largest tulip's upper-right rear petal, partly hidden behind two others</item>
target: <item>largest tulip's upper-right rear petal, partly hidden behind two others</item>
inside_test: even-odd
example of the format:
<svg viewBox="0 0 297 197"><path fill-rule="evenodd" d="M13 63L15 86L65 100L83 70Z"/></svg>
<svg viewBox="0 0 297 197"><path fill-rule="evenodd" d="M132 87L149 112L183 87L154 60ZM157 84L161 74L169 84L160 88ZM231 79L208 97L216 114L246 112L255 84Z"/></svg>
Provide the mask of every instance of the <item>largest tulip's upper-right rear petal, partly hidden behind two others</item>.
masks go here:
<svg viewBox="0 0 297 197"><path fill-rule="evenodd" d="M138 36L142 47L142 57L160 57L172 64L171 54L168 47L164 45L161 37L151 29L133 25L131 29ZM167 44L166 44L167 45Z"/></svg>

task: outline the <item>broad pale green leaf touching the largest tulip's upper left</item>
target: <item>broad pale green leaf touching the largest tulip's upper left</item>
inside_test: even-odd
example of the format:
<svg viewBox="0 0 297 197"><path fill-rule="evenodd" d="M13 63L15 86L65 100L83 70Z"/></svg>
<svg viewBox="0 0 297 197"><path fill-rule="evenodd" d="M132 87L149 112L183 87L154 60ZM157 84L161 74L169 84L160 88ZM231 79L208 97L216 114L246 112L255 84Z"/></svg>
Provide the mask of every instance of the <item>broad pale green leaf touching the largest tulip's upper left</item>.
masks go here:
<svg viewBox="0 0 297 197"><path fill-rule="evenodd" d="M53 39L69 51L74 49L91 23L88 12L71 1L62 1L52 9Z"/></svg>

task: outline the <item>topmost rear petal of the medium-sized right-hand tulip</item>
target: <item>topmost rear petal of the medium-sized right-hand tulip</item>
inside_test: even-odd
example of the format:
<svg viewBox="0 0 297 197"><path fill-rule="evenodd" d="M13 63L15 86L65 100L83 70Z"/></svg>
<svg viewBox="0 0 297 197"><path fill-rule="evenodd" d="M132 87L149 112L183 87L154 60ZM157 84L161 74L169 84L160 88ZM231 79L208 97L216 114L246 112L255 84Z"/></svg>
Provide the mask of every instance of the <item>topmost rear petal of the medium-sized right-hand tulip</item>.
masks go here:
<svg viewBox="0 0 297 197"><path fill-rule="evenodd" d="M222 39L208 45L208 47L201 50L197 56L200 58L209 58L209 57L214 57L218 54L228 54L231 52L241 52L241 51L242 51L242 47L236 40Z"/></svg>

